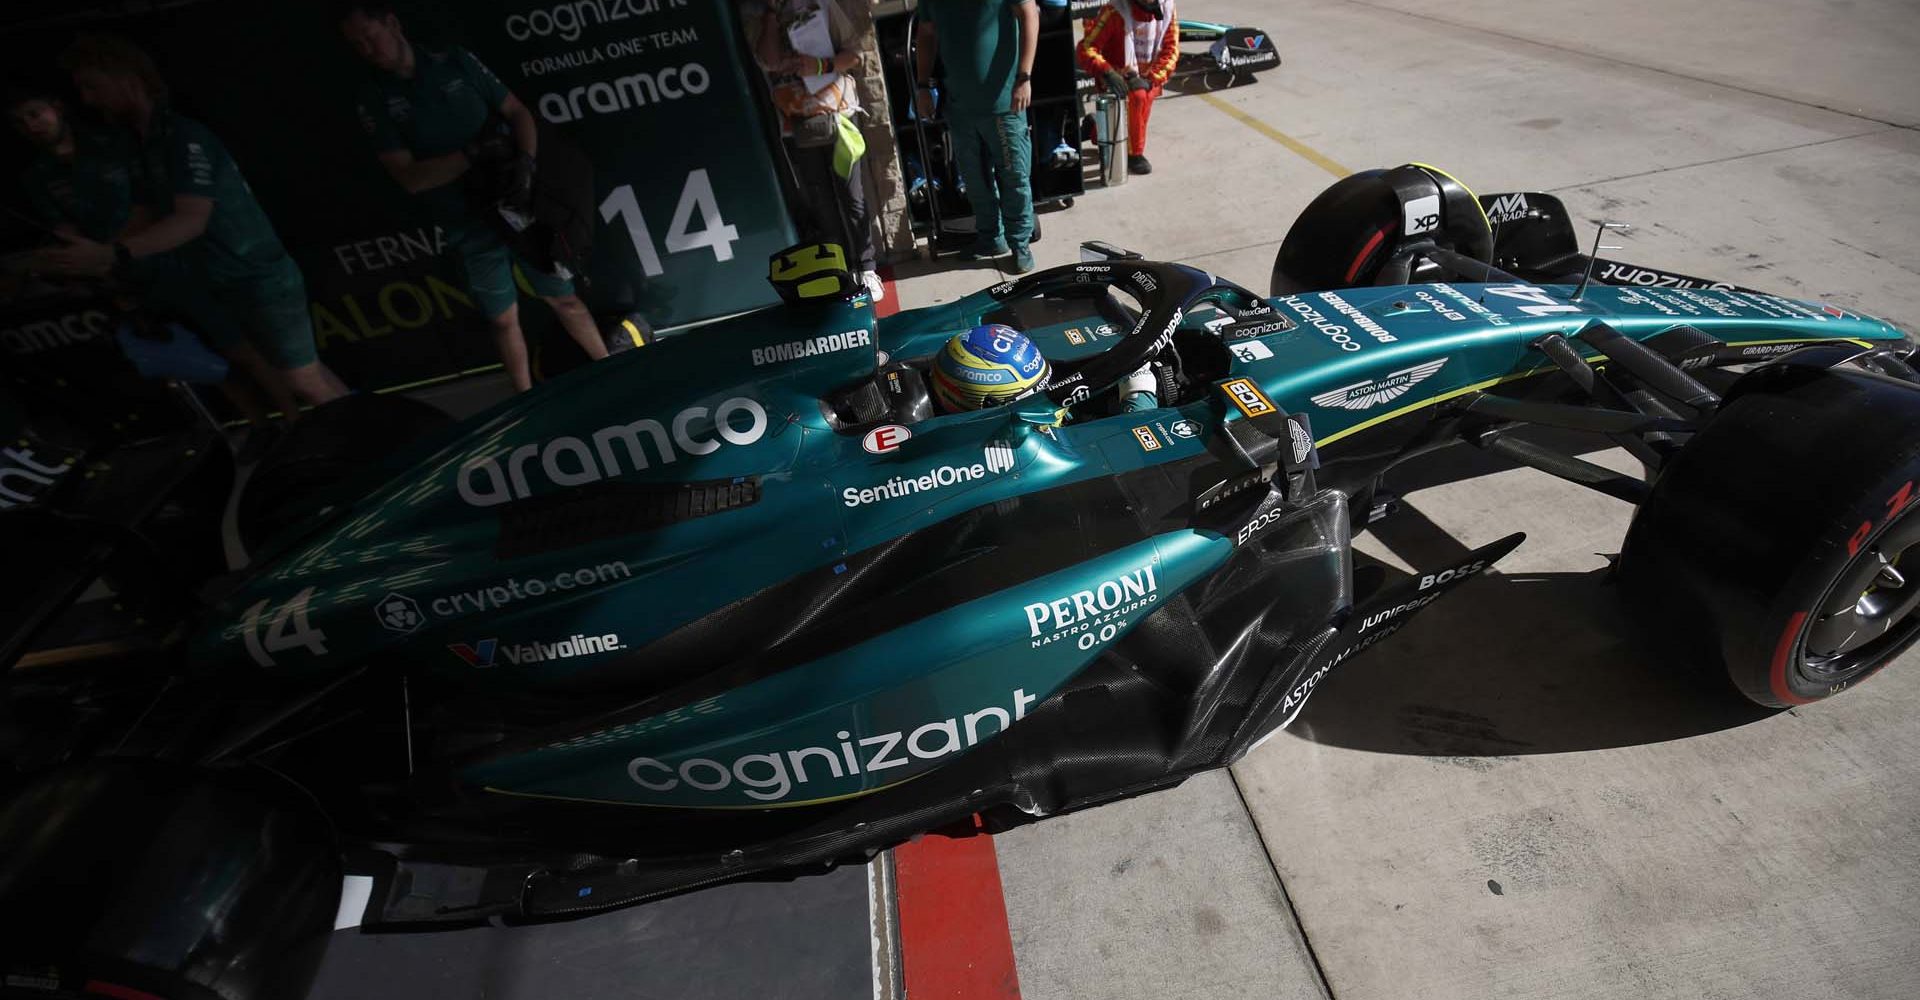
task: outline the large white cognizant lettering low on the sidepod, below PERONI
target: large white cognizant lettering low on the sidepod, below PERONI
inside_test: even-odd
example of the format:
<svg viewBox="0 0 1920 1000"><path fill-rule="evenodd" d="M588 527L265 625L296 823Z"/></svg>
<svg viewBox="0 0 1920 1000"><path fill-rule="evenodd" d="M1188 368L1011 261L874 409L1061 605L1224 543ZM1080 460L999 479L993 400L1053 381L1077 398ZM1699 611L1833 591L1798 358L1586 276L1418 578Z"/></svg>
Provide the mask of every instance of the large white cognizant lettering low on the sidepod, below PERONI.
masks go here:
<svg viewBox="0 0 1920 1000"><path fill-rule="evenodd" d="M651 756L636 756L626 764L626 775L647 791L666 793L682 785L699 791L726 791L739 785L747 798L780 802L793 795L795 787L808 781L858 777L956 754L1025 718L1027 706L1035 701L1039 701L1035 695L1014 689L1012 712L991 704L964 716L929 722L912 731L902 727L858 741L851 731L841 729L833 733L837 741L833 747L741 754L733 760L695 756L682 760L678 768ZM993 722L993 727L987 729L985 722Z"/></svg>

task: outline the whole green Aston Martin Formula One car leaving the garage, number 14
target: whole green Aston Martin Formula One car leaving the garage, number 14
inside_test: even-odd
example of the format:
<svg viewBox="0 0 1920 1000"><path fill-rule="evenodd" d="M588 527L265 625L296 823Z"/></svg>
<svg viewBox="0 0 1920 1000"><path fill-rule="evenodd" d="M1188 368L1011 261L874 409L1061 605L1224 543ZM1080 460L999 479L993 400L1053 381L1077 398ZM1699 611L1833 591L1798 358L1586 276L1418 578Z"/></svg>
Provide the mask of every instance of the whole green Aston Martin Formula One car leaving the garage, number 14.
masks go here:
<svg viewBox="0 0 1920 1000"><path fill-rule="evenodd" d="M1315 200L1269 296L1089 244L876 319L795 250L785 305L357 476L399 403L323 409L336 447L253 472L275 537L177 655L13 672L10 718L58 739L15 754L4 946L290 996L342 866L374 929L555 919L1175 785L1521 543L1354 570L1382 474L1444 445L1634 503L1622 591L1749 699L1857 685L1920 637L1912 344L1596 253L1549 196L1407 165ZM927 361L983 321L1052 380L937 413ZM1158 407L1125 411L1142 367Z"/></svg>

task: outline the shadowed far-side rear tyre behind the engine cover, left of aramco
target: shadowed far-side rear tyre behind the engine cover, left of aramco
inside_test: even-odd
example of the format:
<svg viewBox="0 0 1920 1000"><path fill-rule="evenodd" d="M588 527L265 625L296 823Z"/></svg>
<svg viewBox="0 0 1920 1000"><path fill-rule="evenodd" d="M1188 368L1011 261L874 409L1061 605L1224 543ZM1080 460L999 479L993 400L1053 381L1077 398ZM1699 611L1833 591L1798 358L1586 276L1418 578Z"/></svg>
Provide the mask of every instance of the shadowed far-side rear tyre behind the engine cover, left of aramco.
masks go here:
<svg viewBox="0 0 1920 1000"><path fill-rule="evenodd" d="M313 514L344 484L453 418L405 395L355 393L315 407L253 468L236 522L248 553Z"/></svg>

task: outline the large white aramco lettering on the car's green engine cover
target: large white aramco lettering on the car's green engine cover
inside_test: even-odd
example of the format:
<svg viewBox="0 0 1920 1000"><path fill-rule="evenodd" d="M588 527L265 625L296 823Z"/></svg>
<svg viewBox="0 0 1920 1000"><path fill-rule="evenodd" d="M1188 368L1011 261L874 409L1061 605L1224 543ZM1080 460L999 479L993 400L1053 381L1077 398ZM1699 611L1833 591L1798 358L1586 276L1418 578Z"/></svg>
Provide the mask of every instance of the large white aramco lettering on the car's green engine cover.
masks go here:
<svg viewBox="0 0 1920 1000"><path fill-rule="evenodd" d="M453 482L463 501L474 507L495 507L532 493L530 463L534 472L545 476L553 486L586 486L651 468L653 461L672 464L680 461L682 451L712 455L722 445L751 445L764 436L766 409L753 399L735 395L710 413L707 407L687 407L666 424L634 420L632 424L599 428L591 434L591 447L580 438L566 436L520 445L509 451L505 461L492 455L472 457L455 472ZM653 443L651 459L649 441Z"/></svg>

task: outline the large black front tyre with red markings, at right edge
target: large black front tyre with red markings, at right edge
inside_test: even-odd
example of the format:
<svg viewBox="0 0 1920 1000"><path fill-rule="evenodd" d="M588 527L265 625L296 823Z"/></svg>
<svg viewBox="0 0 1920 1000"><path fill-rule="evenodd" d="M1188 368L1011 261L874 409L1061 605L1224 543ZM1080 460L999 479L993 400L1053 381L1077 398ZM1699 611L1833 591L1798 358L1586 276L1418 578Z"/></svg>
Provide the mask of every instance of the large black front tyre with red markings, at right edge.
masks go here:
<svg viewBox="0 0 1920 1000"><path fill-rule="evenodd" d="M1661 472L1620 583L1747 699L1828 699L1920 639L1916 501L1920 388L1763 369Z"/></svg>

